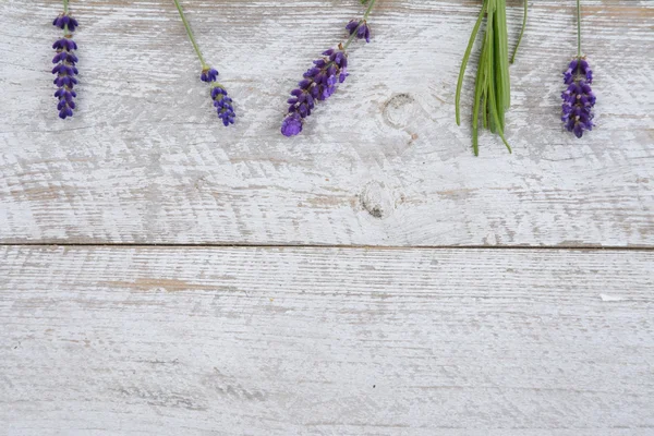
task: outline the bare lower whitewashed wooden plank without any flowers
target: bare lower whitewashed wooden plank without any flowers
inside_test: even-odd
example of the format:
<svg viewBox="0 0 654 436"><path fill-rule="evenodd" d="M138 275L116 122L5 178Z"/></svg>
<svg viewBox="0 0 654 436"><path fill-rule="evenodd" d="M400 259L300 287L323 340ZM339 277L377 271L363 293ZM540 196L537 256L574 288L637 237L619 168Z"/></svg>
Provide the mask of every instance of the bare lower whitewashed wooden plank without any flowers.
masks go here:
<svg viewBox="0 0 654 436"><path fill-rule="evenodd" d="M651 251L0 247L11 435L651 435Z"/></svg>

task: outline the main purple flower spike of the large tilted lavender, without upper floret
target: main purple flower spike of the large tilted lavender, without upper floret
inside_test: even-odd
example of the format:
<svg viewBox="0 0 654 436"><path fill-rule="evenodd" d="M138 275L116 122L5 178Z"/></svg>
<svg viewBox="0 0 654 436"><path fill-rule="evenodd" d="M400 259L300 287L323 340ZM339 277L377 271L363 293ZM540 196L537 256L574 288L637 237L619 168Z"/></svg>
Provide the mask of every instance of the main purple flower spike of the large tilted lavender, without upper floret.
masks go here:
<svg viewBox="0 0 654 436"><path fill-rule="evenodd" d="M329 98L336 92L337 83L343 83L347 76L346 52L341 48L324 51L323 58L314 61L314 66L304 73L304 78L291 92L289 113L281 123L281 133L294 136L302 132L303 120L311 116L316 102Z"/></svg>

